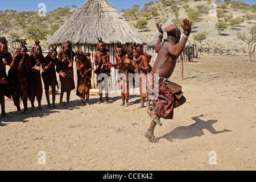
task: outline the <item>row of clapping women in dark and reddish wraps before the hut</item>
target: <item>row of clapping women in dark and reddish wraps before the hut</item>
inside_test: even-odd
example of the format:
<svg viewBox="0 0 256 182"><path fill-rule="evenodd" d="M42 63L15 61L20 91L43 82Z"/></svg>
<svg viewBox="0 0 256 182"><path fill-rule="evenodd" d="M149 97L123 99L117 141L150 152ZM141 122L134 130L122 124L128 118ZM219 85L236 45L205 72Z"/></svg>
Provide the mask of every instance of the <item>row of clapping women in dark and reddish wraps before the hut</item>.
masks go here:
<svg viewBox="0 0 256 182"><path fill-rule="evenodd" d="M147 74L151 71L149 64L151 56L144 53L142 48L136 43L131 48L132 52L127 51L121 44L118 44L114 64L110 63L109 51L105 48L105 43L102 40L99 39L97 51L94 53L94 64L96 66L94 72L97 76L100 73L107 73L109 76L110 68L112 67L119 69L119 73L126 75L125 78L121 77L121 106L129 106L129 73L136 72L141 75L141 73ZM42 80L48 109L51 106L53 109L56 109L56 86L59 86L56 72L60 76L60 105L69 105L71 91L75 89L74 61L76 61L77 65L76 95L80 97L82 105L85 106L89 103L89 90L92 88L90 53L84 53L81 50L74 52L71 42L65 42L59 52L56 51L56 48L52 48L47 56L44 57L40 42L36 40L30 53L28 53L26 42L22 42L13 55L11 55L8 51L7 40L4 37L0 38L0 104L2 117L9 117L5 112L5 96L13 99L17 114L21 114L20 98L24 105L25 114L30 114L27 106L28 99L31 102L32 110L35 110L35 98L38 101L38 108L42 110ZM8 73L6 73L6 65L10 67ZM139 108L144 107L144 98L147 100L147 107L149 107L147 90L143 90L144 86L142 86L142 83L146 82L146 80L143 81L146 77L143 78L142 76L140 79L141 106ZM49 98L50 87L52 90L52 105ZM101 89L99 88L99 90ZM67 93L67 102L63 101L64 93ZM100 101L97 104L102 102L102 93L100 93ZM109 104L108 93L106 93L105 104Z"/></svg>

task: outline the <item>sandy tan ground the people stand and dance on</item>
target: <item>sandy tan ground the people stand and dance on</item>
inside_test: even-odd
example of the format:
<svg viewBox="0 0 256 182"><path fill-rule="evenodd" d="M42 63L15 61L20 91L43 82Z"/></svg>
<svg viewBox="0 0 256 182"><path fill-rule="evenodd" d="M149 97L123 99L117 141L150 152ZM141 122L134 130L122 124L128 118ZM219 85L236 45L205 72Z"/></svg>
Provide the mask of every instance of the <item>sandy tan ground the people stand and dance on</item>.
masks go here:
<svg viewBox="0 0 256 182"><path fill-rule="evenodd" d="M31 115L16 115L13 101L6 101L10 118L0 122L0 169L255 170L256 62L199 57L184 64L184 80L177 64L171 80L183 86L187 102L173 120L156 126L158 143L143 136L151 120L146 109L136 109L138 94L131 94L129 107L119 106L119 94L110 94L109 105L97 105L92 96L82 107L73 91L71 106L55 110L43 96L44 111Z"/></svg>

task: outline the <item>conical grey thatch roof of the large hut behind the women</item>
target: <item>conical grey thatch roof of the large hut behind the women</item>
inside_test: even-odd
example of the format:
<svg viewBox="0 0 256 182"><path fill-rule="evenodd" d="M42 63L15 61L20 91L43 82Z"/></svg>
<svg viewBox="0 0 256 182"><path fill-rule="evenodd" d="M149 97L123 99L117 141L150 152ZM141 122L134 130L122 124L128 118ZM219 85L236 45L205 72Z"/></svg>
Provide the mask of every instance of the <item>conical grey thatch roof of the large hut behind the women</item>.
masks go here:
<svg viewBox="0 0 256 182"><path fill-rule="evenodd" d="M47 40L47 44L63 44L69 40L72 44L94 45L100 37L106 44L147 43L110 2L88 0Z"/></svg>

